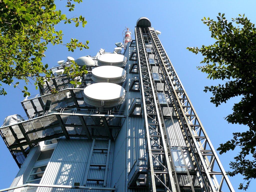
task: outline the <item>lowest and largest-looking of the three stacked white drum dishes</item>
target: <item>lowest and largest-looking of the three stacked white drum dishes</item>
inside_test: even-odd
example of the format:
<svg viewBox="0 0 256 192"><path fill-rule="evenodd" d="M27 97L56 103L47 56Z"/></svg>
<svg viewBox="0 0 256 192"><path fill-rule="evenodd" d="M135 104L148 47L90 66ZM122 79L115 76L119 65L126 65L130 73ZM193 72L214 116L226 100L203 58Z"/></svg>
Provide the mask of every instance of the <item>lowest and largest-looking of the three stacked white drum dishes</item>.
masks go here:
<svg viewBox="0 0 256 192"><path fill-rule="evenodd" d="M124 88L114 83L94 83L83 92L84 101L96 107L113 107L124 102Z"/></svg>

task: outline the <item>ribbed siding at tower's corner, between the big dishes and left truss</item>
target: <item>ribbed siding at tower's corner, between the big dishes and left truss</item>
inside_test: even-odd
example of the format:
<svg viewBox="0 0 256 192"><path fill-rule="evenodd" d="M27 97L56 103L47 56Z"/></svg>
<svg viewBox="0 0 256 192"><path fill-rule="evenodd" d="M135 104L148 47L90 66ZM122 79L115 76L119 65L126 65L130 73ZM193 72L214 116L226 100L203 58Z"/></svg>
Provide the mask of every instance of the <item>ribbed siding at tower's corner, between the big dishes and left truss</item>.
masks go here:
<svg viewBox="0 0 256 192"><path fill-rule="evenodd" d="M130 44L127 45L125 52L125 56L128 59L126 64L126 113L128 112L133 99L141 98L141 93L139 91L129 91L128 89L132 78L139 76L138 73L129 73L131 65L135 62L129 60L130 54L135 50L135 47L129 47L129 45ZM134 164L135 159L145 158L146 150L144 134L144 120L142 116L129 117L127 114L123 127L116 138L114 148L111 186L115 186L117 192L127 191L127 177L130 168Z"/></svg>

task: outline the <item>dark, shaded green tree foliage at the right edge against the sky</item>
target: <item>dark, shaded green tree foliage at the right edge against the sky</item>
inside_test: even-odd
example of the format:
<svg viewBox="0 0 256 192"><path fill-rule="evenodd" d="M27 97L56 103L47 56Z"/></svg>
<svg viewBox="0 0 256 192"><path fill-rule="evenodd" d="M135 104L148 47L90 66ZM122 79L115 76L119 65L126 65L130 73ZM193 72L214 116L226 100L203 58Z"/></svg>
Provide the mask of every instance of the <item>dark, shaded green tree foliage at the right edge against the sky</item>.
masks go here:
<svg viewBox="0 0 256 192"><path fill-rule="evenodd" d="M256 29L244 15L228 22L220 14L217 21L203 18L209 27L211 37L217 41L213 45L188 47L189 51L204 56L199 70L208 74L210 79L221 79L226 83L205 87L205 92L212 92L211 102L216 106L226 103L232 97L241 96L241 101L233 106L233 113L226 117L229 123L248 125L249 130L233 133L233 139L220 144L220 154L240 148L239 154L230 163L232 168L228 175L242 174L247 181L239 189L246 190L252 178L256 178Z"/></svg>

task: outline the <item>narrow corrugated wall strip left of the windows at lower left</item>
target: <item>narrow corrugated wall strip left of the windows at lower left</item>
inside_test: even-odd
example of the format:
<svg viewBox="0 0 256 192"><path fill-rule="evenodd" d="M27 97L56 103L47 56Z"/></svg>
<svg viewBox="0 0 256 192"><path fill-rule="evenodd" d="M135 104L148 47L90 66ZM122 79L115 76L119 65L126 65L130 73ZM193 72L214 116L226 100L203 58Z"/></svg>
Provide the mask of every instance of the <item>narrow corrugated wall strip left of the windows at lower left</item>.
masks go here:
<svg viewBox="0 0 256 192"><path fill-rule="evenodd" d="M40 146L35 146L31 149L31 151L29 152L27 158L25 159L23 165L21 166L19 172L17 173L12 185L10 187L15 187L18 185L23 185L26 182L26 179L34 165L34 163L36 162L36 159L38 158L39 154L40 154Z"/></svg>

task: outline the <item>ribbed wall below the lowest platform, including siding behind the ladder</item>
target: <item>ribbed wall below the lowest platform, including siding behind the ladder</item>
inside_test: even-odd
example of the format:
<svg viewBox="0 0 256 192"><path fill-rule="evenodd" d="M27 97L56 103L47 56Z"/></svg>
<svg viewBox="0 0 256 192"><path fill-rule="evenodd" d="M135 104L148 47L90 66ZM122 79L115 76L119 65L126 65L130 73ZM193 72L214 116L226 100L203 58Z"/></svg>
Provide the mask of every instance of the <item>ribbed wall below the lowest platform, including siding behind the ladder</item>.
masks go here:
<svg viewBox="0 0 256 192"><path fill-rule="evenodd" d="M74 185L74 182L78 182L83 185L88 163L106 163L106 153L101 151L93 152L91 162L88 162L88 154L92 147L92 141L84 138L60 138L40 184ZM94 147L108 148L108 140L95 140ZM110 147L107 187L110 187L112 154L113 144ZM104 178L104 172L105 167L90 167L88 178ZM86 186L103 187L103 182L98 185L96 182L88 181Z"/></svg>

